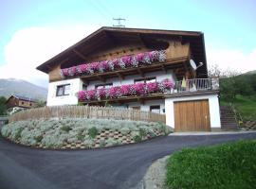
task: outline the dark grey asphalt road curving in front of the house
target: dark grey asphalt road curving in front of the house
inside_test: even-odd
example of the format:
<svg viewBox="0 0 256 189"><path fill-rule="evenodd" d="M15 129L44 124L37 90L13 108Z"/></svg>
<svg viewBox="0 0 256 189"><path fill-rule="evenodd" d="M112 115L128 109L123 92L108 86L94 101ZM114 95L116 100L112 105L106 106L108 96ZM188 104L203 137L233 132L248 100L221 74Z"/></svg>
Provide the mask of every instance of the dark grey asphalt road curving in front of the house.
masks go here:
<svg viewBox="0 0 256 189"><path fill-rule="evenodd" d="M0 137L1 189L133 188L156 159L186 146L209 146L256 133L167 136L137 145L95 150L44 150Z"/></svg>

